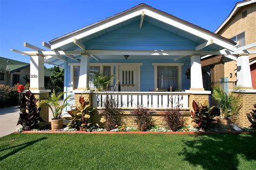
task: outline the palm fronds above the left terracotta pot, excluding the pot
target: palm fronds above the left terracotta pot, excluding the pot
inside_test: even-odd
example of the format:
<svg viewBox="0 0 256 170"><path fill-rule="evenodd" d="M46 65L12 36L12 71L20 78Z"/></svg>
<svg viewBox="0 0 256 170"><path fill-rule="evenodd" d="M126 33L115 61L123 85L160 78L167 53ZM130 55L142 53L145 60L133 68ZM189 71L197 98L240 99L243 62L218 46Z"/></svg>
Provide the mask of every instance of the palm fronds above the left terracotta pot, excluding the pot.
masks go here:
<svg viewBox="0 0 256 170"><path fill-rule="evenodd" d="M72 94L69 94L68 96L66 96L66 98L64 99L63 103L60 102L60 98L65 94L66 92L55 92L55 90L53 90L53 92L51 93L51 96L49 96L47 99L45 100L41 100L39 107L42 106L43 104L47 105L50 107L52 114L53 114L53 120L58 120L60 119L60 116L62 114L62 111L64 110L64 108L66 106L68 106L68 99L72 96Z"/></svg>

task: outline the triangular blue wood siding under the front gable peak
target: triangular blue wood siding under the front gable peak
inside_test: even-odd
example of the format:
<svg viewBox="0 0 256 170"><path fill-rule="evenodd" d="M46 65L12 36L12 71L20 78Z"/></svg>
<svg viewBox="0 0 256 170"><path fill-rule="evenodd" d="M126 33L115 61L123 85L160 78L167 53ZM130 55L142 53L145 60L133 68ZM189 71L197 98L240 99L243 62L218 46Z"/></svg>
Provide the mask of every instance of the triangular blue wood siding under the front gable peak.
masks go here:
<svg viewBox="0 0 256 170"><path fill-rule="evenodd" d="M149 22L139 21L84 42L88 50L194 50L198 44Z"/></svg>

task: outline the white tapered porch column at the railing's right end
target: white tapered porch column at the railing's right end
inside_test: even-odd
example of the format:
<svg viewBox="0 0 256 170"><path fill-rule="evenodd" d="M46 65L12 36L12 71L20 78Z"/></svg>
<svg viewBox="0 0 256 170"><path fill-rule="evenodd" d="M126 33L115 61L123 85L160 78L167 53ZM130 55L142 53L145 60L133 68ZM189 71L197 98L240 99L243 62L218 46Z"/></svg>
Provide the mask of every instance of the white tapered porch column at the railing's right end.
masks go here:
<svg viewBox="0 0 256 170"><path fill-rule="evenodd" d="M190 90L204 90L201 57L199 55L191 56L190 81Z"/></svg>

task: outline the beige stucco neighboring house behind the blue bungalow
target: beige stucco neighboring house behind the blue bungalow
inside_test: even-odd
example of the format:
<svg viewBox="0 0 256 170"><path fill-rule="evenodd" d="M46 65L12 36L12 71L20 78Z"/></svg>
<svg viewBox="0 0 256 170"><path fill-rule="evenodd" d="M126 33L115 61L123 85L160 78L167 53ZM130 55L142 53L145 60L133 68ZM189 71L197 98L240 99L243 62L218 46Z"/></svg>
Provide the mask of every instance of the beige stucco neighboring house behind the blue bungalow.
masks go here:
<svg viewBox="0 0 256 170"><path fill-rule="evenodd" d="M247 50L256 50L256 1L242 1L235 4L233 10L230 12L230 15L225 19L225 21L218 27L215 33L234 40L237 42L237 47L242 46L253 46ZM246 53L246 51L244 51ZM233 87L232 81L237 81L237 60L234 58L223 57L221 62L212 63L211 58L219 58L221 56L211 56L204 58L202 60L202 66L214 65L217 69L224 70L221 75L212 75L214 78L211 80L225 79L228 80L229 89ZM232 57L232 56L231 56ZM234 60L233 60L234 59ZM250 67L251 67L251 77L252 77L252 86L256 89L256 55L250 54ZM215 70L216 70L215 69ZM217 69L219 70L219 69Z"/></svg>

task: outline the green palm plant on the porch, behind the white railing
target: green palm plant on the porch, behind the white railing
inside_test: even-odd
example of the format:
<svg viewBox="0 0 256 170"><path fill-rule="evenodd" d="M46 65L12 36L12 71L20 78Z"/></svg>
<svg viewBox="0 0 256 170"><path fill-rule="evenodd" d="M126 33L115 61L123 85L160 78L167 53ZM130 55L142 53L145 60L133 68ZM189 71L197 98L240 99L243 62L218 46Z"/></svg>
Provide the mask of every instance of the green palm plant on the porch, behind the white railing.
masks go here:
<svg viewBox="0 0 256 170"><path fill-rule="evenodd" d="M97 91L103 91L107 89L113 77L114 75L106 76L101 72L96 72L92 74L92 83L95 85Z"/></svg>

